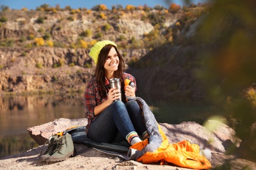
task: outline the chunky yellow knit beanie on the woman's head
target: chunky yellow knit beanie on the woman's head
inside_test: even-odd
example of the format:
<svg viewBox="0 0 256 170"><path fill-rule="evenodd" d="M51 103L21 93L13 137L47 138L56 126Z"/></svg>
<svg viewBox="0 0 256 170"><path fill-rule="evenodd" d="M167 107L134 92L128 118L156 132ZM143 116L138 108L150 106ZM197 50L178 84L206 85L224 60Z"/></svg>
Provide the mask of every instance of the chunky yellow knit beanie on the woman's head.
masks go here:
<svg viewBox="0 0 256 170"><path fill-rule="evenodd" d="M89 56L91 58L93 58L93 60L95 61L95 65L97 64L98 62L98 54L100 54L100 50L108 45L108 44L112 44L114 46L116 46L117 48L117 45L115 44L115 42L112 42L112 41L109 41L109 40L104 40L104 41L98 41L96 42L96 44L91 48L90 52L89 52Z"/></svg>

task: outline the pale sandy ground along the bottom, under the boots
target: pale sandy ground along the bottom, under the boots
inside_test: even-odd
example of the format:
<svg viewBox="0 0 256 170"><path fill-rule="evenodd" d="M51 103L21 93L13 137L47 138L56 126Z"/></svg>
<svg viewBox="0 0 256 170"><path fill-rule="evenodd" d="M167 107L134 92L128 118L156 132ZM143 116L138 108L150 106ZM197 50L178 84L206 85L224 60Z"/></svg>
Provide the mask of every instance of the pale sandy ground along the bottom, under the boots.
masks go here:
<svg viewBox="0 0 256 170"><path fill-rule="evenodd" d="M42 147L39 146L27 152L1 158L0 169L186 169L174 165L143 164L137 161L125 161L122 158L104 154L83 144L75 144L77 149L76 156L67 158L65 161L45 163L38 161ZM228 169L242 169L245 166L248 166L249 169L256 169L256 163L252 161L212 153L211 164L213 168L221 165L226 166L224 162L227 160L232 165Z"/></svg>

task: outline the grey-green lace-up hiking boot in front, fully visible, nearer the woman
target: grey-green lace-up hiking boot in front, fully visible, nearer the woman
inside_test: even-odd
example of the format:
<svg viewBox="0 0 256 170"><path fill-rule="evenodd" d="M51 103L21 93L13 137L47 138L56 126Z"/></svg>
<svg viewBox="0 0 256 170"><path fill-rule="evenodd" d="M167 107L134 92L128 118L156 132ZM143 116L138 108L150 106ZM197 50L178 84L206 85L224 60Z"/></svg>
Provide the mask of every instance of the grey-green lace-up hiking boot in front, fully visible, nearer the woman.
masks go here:
<svg viewBox="0 0 256 170"><path fill-rule="evenodd" d="M74 144L69 133L56 140L56 149L52 156L49 156L46 161L64 161L70 156L74 156Z"/></svg>

